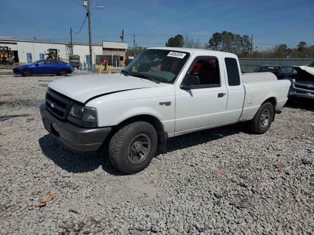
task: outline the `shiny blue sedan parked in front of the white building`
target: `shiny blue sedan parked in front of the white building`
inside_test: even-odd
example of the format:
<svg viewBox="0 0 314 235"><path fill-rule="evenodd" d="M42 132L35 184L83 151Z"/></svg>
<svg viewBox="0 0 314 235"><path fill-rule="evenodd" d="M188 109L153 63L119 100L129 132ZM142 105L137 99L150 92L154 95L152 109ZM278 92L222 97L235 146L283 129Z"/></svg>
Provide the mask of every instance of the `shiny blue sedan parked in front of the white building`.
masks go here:
<svg viewBox="0 0 314 235"><path fill-rule="evenodd" d="M58 60L37 60L29 65L20 65L13 69L14 74L23 76L31 76L35 74L57 74L61 76L67 75L74 71L69 63Z"/></svg>

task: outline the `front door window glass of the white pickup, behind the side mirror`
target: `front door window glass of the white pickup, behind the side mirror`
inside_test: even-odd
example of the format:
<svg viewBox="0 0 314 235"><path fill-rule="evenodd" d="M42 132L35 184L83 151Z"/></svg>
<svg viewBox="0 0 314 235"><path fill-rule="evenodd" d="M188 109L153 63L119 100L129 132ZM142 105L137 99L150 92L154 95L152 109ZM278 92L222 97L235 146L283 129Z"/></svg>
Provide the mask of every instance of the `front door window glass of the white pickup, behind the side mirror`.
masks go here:
<svg viewBox="0 0 314 235"><path fill-rule="evenodd" d="M202 57L194 62L190 75L200 78L200 85L220 85L219 64L216 57Z"/></svg>

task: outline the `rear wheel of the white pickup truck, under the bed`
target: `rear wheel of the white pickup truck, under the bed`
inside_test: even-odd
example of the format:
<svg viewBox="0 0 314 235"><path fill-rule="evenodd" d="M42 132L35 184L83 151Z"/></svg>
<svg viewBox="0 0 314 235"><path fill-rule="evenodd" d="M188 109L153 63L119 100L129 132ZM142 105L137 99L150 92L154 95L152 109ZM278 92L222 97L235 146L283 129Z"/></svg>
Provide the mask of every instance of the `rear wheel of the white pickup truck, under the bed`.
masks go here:
<svg viewBox="0 0 314 235"><path fill-rule="evenodd" d="M256 134L264 134L270 127L274 118L274 107L266 102L261 105L254 118L249 121L250 131Z"/></svg>

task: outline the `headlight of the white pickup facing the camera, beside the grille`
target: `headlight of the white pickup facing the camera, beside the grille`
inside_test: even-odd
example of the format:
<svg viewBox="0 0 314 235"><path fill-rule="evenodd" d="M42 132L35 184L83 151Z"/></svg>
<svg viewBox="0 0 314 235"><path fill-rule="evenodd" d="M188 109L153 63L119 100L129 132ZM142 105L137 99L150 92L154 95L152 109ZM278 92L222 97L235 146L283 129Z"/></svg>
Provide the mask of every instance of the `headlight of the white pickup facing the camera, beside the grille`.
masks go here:
<svg viewBox="0 0 314 235"><path fill-rule="evenodd" d="M68 119L69 121L84 127L95 127L97 126L97 110L92 107L73 104Z"/></svg>

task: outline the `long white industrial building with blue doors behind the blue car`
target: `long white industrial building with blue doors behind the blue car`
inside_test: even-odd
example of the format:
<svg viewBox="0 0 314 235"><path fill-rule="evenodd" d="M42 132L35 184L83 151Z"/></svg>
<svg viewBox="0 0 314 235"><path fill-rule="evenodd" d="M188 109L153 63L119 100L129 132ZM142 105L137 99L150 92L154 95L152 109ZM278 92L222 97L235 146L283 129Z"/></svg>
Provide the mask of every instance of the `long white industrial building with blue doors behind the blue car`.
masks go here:
<svg viewBox="0 0 314 235"><path fill-rule="evenodd" d="M63 61L68 61L69 55L71 54L71 45L68 42L20 40L12 39L10 37L0 37L0 47L9 47L9 52L15 57L15 62L19 63L32 63L36 60L44 59L47 57L45 56L45 51L48 52L48 49L50 48L57 49L58 54ZM115 58L119 58L121 64L124 64L127 48L127 43L119 42L93 44L93 62L96 62L96 55L114 55L116 56ZM73 43L73 54L80 56L81 63L88 63L89 45L85 43Z"/></svg>

